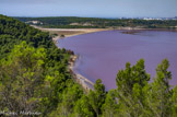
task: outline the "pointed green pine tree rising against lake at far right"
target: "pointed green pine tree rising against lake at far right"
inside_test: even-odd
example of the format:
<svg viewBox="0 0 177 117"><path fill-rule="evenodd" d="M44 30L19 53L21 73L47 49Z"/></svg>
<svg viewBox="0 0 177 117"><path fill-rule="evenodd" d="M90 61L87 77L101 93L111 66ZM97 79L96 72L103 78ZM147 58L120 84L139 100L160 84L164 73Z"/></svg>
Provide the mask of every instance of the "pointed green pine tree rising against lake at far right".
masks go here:
<svg viewBox="0 0 177 117"><path fill-rule="evenodd" d="M149 106L152 116L166 117L172 115L172 91L169 90L169 80L172 79L168 60L164 59L156 68L156 77L149 90Z"/></svg>

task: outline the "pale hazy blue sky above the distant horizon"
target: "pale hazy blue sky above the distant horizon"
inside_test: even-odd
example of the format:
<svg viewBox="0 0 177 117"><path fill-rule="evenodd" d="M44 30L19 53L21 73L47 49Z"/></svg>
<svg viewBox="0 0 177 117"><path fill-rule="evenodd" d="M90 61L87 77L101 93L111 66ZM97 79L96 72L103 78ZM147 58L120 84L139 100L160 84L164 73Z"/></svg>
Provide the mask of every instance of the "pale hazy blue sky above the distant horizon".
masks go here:
<svg viewBox="0 0 177 117"><path fill-rule="evenodd" d="M174 17L177 0L0 0L8 16Z"/></svg>

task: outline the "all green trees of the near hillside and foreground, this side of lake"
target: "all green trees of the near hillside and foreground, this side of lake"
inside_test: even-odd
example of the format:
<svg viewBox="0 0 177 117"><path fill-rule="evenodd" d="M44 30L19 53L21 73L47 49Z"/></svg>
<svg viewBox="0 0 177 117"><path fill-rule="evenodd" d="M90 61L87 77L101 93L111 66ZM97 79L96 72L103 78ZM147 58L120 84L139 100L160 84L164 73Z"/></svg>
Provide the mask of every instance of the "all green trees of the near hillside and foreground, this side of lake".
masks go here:
<svg viewBox="0 0 177 117"><path fill-rule="evenodd" d="M140 59L118 72L117 89L105 91L98 79L86 93L67 70L70 52L58 49L47 33L0 15L0 115L177 116L177 85L168 83L167 59L157 66L152 83Z"/></svg>

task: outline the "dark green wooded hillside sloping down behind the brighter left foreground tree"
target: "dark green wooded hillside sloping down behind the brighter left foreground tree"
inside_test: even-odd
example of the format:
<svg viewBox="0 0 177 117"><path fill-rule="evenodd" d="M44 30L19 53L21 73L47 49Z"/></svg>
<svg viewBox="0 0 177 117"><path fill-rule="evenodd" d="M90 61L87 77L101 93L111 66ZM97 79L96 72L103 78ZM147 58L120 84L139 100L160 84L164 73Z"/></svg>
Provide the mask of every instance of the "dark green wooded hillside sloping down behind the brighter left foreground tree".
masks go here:
<svg viewBox="0 0 177 117"><path fill-rule="evenodd" d="M35 30L17 20L0 15L0 59L5 57L13 46L22 40L35 48L39 46L45 48L55 46L48 33Z"/></svg>

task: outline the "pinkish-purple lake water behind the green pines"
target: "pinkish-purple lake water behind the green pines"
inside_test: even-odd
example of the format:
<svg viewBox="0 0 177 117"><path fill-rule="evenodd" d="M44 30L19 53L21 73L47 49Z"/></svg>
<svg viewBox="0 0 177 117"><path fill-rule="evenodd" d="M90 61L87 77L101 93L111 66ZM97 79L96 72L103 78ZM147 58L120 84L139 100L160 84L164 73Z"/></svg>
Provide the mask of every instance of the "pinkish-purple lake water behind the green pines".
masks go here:
<svg viewBox="0 0 177 117"><path fill-rule="evenodd" d="M173 79L177 84L177 33L167 31L139 31L125 34L125 31L104 31L59 39L60 48L71 49L79 59L74 72L95 82L102 79L107 90L116 89L118 70L126 62L134 65L145 60L145 69L155 77L156 66L165 58L169 60ZM127 32L127 31L126 31Z"/></svg>

